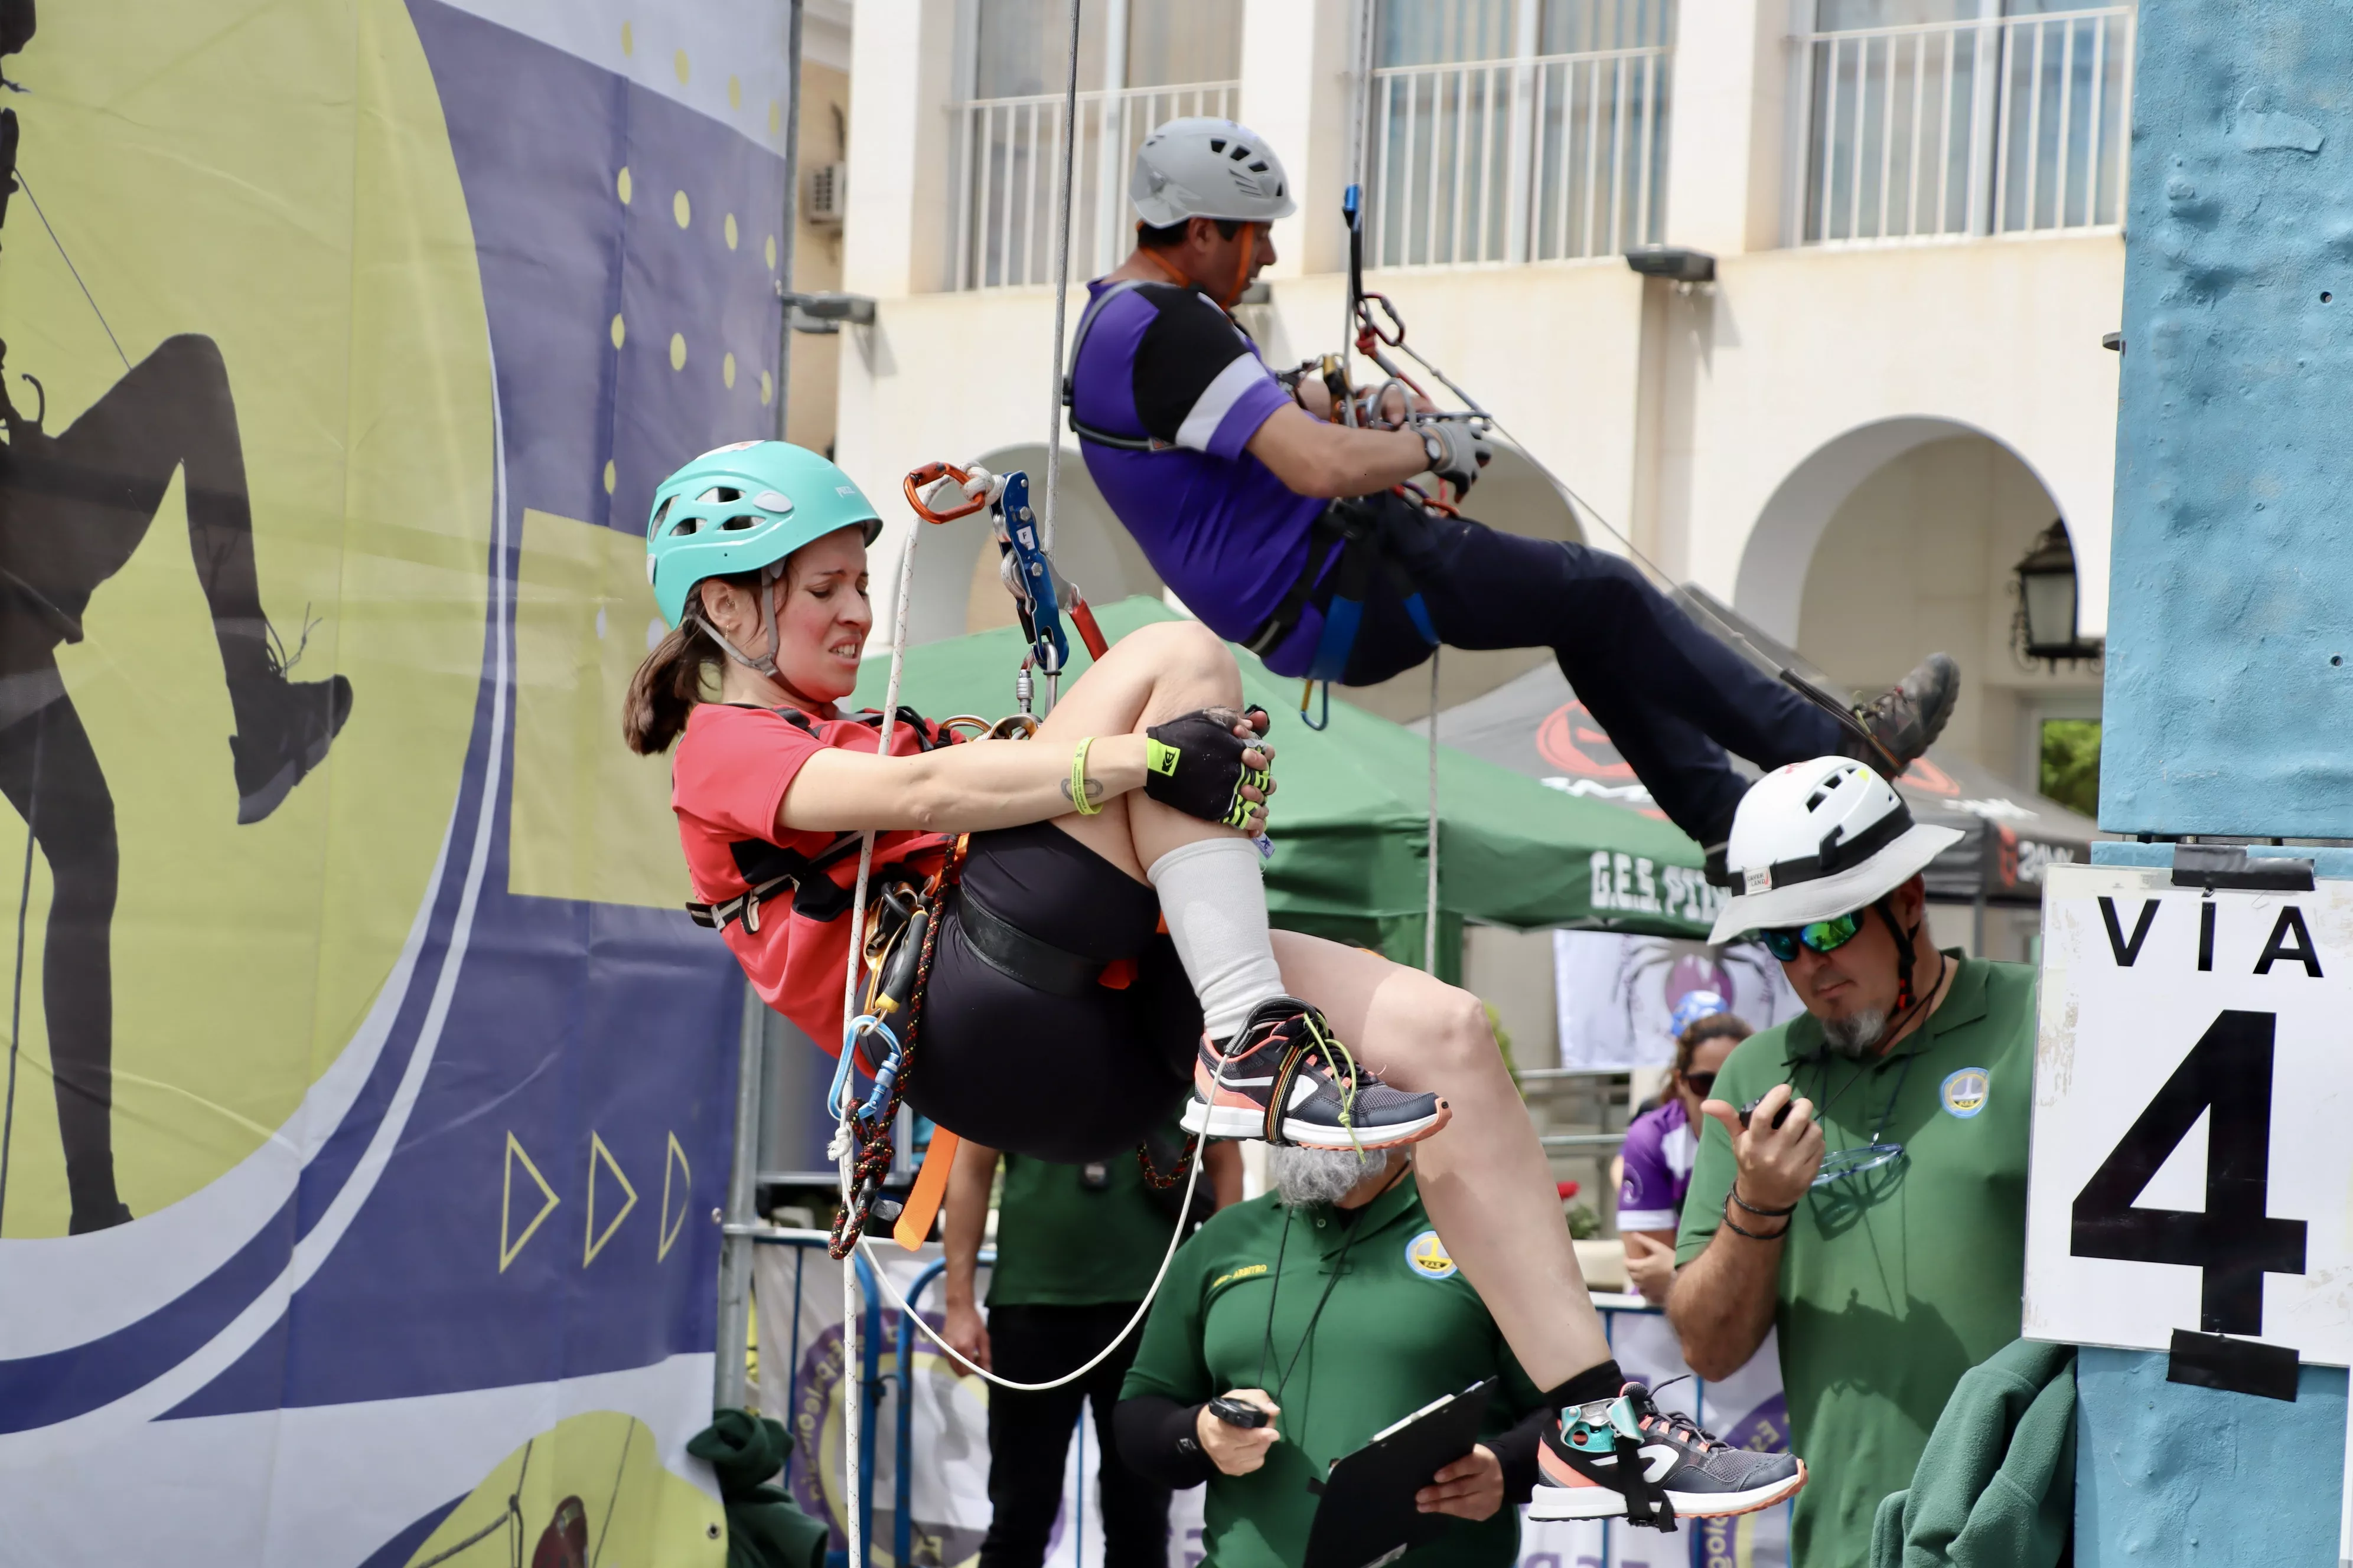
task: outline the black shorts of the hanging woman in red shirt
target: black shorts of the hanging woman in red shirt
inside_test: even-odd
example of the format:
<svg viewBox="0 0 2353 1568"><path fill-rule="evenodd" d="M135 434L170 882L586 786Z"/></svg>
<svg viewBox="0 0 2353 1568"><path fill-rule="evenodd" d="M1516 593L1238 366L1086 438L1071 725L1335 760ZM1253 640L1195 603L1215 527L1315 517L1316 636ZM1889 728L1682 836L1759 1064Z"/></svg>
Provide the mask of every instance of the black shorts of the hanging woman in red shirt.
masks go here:
<svg viewBox="0 0 2353 1568"><path fill-rule="evenodd" d="M960 1138L1033 1159L1111 1159L1167 1126L1193 1084L1200 1001L1160 933L1151 886L1052 823L972 835L962 889L1125 990L1064 997L981 959L948 900L915 1037L908 1103Z"/></svg>

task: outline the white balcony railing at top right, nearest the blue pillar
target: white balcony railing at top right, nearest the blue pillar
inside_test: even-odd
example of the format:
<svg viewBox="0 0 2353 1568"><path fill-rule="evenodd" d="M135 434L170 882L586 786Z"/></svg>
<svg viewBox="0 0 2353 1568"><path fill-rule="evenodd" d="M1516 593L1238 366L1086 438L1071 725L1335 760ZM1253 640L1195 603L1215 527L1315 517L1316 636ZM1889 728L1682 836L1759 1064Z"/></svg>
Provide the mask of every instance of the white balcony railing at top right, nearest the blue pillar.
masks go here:
<svg viewBox="0 0 2353 1568"><path fill-rule="evenodd" d="M2134 7L1798 35L1798 244L2111 228Z"/></svg>

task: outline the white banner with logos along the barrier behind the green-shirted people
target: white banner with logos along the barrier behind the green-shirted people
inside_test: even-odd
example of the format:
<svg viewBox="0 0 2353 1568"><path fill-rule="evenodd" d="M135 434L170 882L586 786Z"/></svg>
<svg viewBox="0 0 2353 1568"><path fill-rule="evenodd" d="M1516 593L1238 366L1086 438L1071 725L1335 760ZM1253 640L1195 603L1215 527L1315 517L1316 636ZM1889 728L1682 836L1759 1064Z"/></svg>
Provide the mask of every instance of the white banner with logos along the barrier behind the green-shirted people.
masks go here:
<svg viewBox="0 0 2353 1568"><path fill-rule="evenodd" d="M939 1248L885 1253L892 1284L901 1293L939 1260ZM793 1500L824 1519L835 1544L845 1537L842 1434L847 1385L842 1375L842 1274L821 1244L762 1246L755 1276L760 1312L760 1408L793 1432L786 1486ZM1631 1300L1631 1298L1607 1298ZM936 1328L939 1284L915 1302ZM1628 1378L1659 1387L1659 1403L1682 1410L1739 1448L1788 1446L1788 1408L1781 1399L1781 1366L1774 1342L1725 1382L1701 1385L1675 1347L1666 1319L1647 1307L1607 1307L1612 1349ZM911 1378L899 1380L899 1314L880 1314L882 1335L873 1375L882 1392L875 1403L873 1497L866 1563L896 1568L899 1399L911 1406L911 1549L913 1563L969 1568L988 1533L988 1385L960 1373L920 1333ZM1682 1382L1673 1382L1685 1378ZM1061 1512L1054 1519L1047 1568L1101 1568L1104 1533L1094 1472L1101 1460L1092 1420L1080 1420L1064 1458ZM1169 1568L1193 1568L1200 1547L1202 1490L1184 1490L1169 1502ZM1518 1568L1784 1568L1788 1563L1788 1507L1741 1519L1687 1521L1675 1535L1635 1530L1624 1523L1527 1523L1520 1526Z"/></svg>

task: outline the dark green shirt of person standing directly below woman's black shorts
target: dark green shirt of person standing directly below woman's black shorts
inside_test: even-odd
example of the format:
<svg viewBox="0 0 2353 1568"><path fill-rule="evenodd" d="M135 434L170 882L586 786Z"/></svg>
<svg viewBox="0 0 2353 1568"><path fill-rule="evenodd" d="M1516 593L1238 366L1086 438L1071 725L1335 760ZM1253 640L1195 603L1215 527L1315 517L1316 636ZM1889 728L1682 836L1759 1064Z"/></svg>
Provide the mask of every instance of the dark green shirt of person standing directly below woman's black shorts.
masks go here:
<svg viewBox="0 0 2353 1568"><path fill-rule="evenodd" d="M1200 1185L1209 1185L1207 1171ZM988 1305L1139 1302L1153 1288L1172 1229L1176 1215L1153 1199L1134 1150L1104 1161L1099 1187L1087 1182L1085 1166L1007 1154Z"/></svg>

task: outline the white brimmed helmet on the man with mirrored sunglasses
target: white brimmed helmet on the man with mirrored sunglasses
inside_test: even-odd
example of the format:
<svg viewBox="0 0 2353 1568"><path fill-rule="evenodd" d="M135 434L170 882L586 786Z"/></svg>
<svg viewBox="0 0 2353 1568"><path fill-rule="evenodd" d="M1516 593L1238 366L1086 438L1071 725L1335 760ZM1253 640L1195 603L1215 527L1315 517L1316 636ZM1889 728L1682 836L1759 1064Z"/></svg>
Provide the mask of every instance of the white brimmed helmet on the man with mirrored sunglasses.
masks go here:
<svg viewBox="0 0 2353 1568"><path fill-rule="evenodd" d="M1748 785L1725 860L1741 891L1715 917L1711 943L1866 910L1939 853L1960 827L1915 823L1885 778L1849 757L1814 757Z"/></svg>

